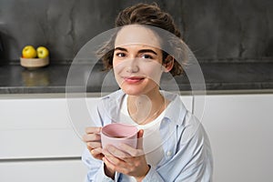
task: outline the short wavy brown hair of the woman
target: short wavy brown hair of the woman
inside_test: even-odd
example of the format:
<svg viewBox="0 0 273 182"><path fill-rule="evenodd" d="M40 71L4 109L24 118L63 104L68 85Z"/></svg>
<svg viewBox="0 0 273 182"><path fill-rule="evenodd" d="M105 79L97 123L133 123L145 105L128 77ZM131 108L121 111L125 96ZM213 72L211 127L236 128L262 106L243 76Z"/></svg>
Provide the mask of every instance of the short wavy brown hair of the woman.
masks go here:
<svg viewBox="0 0 273 182"><path fill-rule="evenodd" d="M172 16L162 11L157 4L137 4L127 7L126 9L121 11L116 17L116 27L124 25L151 25L167 30L168 32L178 37L172 38L170 41L168 41L169 45L174 47L174 49L177 49L174 50L174 53L172 54L175 54L176 57L178 55L179 58L183 57L179 56L182 54L183 50L176 46L179 44L181 45L181 42L183 42L181 39L181 33L178 30L177 25L175 25ZM103 45L96 53L97 56L101 57L101 60L103 61L106 70L113 67L116 34L112 35L106 45ZM162 53L163 63L165 63L167 61L167 56L170 54L165 51L162 51ZM183 68L176 59L174 60L174 66L170 70L170 73L172 74L172 76L179 76L183 73Z"/></svg>

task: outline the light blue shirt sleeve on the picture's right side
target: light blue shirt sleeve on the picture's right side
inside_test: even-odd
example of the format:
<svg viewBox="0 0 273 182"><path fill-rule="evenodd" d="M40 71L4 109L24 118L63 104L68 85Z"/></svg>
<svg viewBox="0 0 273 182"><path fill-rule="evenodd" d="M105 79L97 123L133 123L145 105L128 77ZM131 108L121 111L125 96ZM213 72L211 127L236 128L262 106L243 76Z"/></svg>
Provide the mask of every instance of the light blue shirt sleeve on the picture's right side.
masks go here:
<svg viewBox="0 0 273 182"><path fill-rule="evenodd" d="M168 140L176 147L165 148L172 156L157 168L157 175L161 181L210 182L213 160L207 134L195 116L188 114L186 119L188 125L177 128L177 136Z"/></svg>

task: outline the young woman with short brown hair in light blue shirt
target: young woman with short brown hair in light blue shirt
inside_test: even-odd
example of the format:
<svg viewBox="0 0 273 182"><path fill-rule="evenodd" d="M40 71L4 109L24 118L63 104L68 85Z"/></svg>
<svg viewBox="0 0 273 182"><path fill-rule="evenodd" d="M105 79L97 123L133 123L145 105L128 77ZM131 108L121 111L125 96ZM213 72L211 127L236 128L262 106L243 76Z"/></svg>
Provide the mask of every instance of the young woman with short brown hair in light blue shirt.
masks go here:
<svg viewBox="0 0 273 182"><path fill-rule="evenodd" d="M92 114L97 127L86 128L86 181L211 181L211 149L203 126L178 95L159 89L163 73L183 72L163 49L176 40L166 41L157 31L164 29L181 41L172 17L155 4L138 4L120 12L116 27L98 55L106 69L113 68L121 89L101 99ZM101 126L121 121L139 128L138 147L102 149Z"/></svg>

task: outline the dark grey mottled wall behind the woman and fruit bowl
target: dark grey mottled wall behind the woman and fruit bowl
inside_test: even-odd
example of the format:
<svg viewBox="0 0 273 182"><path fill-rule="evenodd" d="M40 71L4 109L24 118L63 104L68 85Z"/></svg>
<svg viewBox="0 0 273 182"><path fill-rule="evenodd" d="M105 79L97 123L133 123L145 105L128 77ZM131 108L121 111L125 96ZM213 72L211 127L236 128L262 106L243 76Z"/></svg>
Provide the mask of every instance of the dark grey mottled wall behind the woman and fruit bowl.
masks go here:
<svg viewBox="0 0 273 182"><path fill-rule="evenodd" d="M51 61L73 60L81 46L114 26L119 10L138 1L1 0L2 63L19 63L25 45L45 45ZM146 1L174 16L202 62L273 62L273 1Z"/></svg>

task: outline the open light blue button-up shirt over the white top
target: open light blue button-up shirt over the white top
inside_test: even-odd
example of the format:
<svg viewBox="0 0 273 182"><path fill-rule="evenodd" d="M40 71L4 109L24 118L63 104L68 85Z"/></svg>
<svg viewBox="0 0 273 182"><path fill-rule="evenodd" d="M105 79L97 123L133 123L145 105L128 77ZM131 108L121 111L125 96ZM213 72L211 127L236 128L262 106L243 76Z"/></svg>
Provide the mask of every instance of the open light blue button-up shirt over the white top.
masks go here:
<svg viewBox="0 0 273 182"><path fill-rule="evenodd" d="M213 158L209 140L204 127L184 106L180 96L161 91L171 101L160 124L163 138L164 157L151 167L143 182L179 181L209 182L212 181ZM122 99L122 90L102 97L96 111L92 113L92 121L96 126L105 126L118 121ZM127 182L129 177L116 172L115 180L106 177L104 163L91 156L86 150L82 156L88 167L86 182Z"/></svg>

